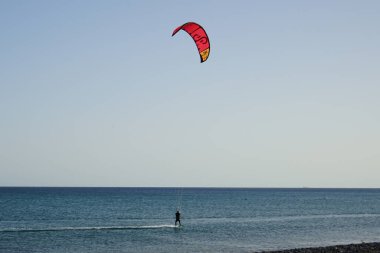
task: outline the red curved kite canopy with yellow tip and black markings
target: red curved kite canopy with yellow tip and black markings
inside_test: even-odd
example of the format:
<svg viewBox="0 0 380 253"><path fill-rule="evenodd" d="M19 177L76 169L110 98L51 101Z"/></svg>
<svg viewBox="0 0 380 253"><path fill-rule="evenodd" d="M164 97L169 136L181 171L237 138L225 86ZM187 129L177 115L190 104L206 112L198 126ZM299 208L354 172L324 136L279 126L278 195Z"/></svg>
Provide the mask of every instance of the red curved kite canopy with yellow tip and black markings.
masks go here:
<svg viewBox="0 0 380 253"><path fill-rule="evenodd" d="M197 45L201 62L205 62L210 54L210 41L203 27L197 23L188 22L177 27L173 31L172 36L174 36L179 30L184 30L193 38L195 44Z"/></svg>

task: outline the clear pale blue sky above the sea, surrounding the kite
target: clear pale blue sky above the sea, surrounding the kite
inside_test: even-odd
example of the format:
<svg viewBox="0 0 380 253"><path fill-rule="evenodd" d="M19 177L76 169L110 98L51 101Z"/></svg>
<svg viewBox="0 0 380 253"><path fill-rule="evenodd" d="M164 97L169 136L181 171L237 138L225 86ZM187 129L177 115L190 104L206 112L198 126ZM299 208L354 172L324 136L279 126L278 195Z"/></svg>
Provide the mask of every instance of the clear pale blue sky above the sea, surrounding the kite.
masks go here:
<svg viewBox="0 0 380 253"><path fill-rule="evenodd" d="M380 187L379 13L0 1L0 185Z"/></svg>

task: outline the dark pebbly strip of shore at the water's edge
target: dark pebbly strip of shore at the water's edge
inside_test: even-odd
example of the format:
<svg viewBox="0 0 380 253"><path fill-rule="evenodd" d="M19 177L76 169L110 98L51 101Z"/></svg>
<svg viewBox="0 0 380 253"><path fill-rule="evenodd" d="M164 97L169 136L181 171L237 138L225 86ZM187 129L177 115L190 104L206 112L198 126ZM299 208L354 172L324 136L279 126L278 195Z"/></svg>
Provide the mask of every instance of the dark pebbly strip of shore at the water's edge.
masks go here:
<svg viewBox="0 0 380 253"><path fill-rule="evenodd" d="M296 248L259 251L261 253L380 253L380 242L334 245L326 247Z"/></svg>

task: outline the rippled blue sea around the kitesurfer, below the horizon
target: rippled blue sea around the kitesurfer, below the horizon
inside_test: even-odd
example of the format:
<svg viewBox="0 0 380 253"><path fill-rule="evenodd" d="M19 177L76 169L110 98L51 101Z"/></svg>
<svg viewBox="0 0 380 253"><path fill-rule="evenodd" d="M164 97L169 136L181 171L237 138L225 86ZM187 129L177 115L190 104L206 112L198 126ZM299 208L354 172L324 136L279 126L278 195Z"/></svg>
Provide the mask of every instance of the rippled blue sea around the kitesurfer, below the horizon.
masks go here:
<svg viewBox="0 0 380 253"><path fill-rule="evenodd" d="M380 189L0 188L1 253L254 252L376 241Z"/></svg>

